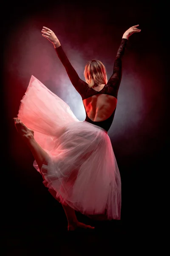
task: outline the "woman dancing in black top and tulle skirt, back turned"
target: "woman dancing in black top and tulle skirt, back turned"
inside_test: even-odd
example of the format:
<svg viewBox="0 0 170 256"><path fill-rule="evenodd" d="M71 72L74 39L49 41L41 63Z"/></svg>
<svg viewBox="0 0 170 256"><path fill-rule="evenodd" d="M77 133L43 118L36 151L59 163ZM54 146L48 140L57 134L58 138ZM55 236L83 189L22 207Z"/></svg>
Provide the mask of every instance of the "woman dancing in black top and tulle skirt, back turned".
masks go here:
<svg viewBox="0 0 170 256"><path fill-rule="evenodd" d="M14 121L31 149L34 167L41 173L44 185L65 210L68 230L94 228L80 223L75 210L88 216L120 219L121 179L108 130L116 110L122 55L128 37L141 31L138 26L123 34L108 81L105 66L98 60L87 63L86 82L82 81L54 32L46 27L41 31L54 44L71 83L82 96L86 119L79 121L62 99L31 76Z"/></svg>

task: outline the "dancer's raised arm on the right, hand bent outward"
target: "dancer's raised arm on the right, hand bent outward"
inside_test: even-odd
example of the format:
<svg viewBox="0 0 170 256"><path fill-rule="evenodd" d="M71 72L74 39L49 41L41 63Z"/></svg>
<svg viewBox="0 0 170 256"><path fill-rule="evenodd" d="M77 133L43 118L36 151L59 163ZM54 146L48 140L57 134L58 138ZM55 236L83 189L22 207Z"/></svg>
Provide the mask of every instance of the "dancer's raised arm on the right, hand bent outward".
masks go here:
<svg viewBox="0 0 170 256"><path fill-rule="evenodd" d="M132 35L134 32L140 32L141 31L141 29L137 29L137 26L139 26L139 25L130 27L123 34L121 44L120 44L119 49L117 51L116 60L114 62L113 74L112 74L111 78L108 80L108 84L110 86L114 87L116 96L117 96L119 86L120 86L120 82L121 82L121 79L122 79L122 56L124 55L124 52L125 52L128 37L130 35Z"/></svg>

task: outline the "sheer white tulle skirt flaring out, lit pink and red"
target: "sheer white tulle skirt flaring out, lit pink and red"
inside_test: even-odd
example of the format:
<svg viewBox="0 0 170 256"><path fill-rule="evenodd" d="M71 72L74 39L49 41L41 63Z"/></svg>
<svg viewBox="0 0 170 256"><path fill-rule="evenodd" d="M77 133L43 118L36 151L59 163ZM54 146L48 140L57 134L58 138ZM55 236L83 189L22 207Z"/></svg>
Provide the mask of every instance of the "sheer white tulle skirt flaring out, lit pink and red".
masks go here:
<svg viewBox="0 0 170 256"><path fill-rule="evenodd" d="M70 107L31 76L18 118L34 130L48 153L39 170L44 185L62 204L88 216L120 219L121 179L108 133L79 121Z"/></svg>

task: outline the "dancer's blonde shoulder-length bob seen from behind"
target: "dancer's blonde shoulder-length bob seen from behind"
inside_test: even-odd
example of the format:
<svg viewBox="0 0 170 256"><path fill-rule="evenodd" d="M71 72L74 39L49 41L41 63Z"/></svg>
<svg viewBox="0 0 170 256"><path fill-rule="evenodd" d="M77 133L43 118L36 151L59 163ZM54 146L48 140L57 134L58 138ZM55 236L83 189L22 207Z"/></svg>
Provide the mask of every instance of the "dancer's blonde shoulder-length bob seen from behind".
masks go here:
<svg viewBox="0 0 170 256"><path fill-rule="evenodd" d="M101 61L95 59L88 61L85 65L84 76L89 87L93 87L95 84L107 84L108 82L105 66Z"/></svg>

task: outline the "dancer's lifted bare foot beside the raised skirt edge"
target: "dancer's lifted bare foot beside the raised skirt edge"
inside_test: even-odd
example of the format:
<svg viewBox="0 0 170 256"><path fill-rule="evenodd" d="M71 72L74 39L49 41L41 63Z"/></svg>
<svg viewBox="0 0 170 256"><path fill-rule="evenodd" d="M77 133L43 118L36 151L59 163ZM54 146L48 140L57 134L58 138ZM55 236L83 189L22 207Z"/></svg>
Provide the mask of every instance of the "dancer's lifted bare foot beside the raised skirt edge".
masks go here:
<svg viewBox="0 0 170 256"><path fill-rule="evenodd" d="M34 131L26 127L23 122L18 118L13 118L15 121L15 127L18 133L23 137L24 140L29 140L34 137Z"/></svg>

